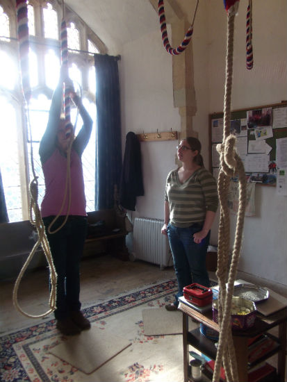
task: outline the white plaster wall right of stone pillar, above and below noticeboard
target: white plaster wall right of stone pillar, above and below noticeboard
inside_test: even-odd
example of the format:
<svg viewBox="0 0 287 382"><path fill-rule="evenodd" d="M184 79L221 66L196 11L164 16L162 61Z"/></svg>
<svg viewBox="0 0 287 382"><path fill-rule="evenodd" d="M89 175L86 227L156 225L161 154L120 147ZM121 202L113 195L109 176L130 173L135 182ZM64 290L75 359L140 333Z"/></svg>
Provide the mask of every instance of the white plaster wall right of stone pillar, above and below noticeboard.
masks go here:
<svg viewBox="0 0 287 382"><path fill-rule="evenodd" d="M210 1L210 3L213 3ZM253 2L254 69L245 69L247 0L236 17L232 109L278 103L286 94L286 1ZM227 15L222 7L208 12L208 112L223 110ZM195 60L200 60L194 53ZM199 92L197 92L199 94ZM256 185L256 216L246 217L238 270L287 285L286 197L276 188ZM215 222L215 224L218 223ZM231 217L234 232L235 219ZM213 244L217 242L213 229Z"/></svg>

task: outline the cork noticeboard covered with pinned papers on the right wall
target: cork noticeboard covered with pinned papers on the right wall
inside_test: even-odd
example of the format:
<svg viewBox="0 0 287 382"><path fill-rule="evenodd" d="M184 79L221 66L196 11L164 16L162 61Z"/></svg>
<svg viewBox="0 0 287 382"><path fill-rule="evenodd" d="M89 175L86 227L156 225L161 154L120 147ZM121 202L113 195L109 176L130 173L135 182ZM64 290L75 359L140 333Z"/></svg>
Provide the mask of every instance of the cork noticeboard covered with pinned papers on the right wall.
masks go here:
<svg viewBox="0 0 287 382"><path fill-rule="evenodd" d="M217 178L223 137L223 112L209 115L210 169ZM279 166L279 143L287 137L287 101L231 112L230 131L236 135L236 151L243 160L247 181L274 186Z"/></svg>

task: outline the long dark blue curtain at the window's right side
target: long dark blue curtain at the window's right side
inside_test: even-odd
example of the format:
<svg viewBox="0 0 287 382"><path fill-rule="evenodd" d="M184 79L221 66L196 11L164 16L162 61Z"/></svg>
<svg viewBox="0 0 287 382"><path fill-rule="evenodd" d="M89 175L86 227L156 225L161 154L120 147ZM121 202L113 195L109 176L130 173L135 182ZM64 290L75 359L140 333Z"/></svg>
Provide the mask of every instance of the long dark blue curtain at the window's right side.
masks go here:
<svg viewBox="0 0 287 382"><path fill-rule="evenodd" d="M117 57L95 54L96 185L95 209L113 208L122 172L120 81Z"/></svg>

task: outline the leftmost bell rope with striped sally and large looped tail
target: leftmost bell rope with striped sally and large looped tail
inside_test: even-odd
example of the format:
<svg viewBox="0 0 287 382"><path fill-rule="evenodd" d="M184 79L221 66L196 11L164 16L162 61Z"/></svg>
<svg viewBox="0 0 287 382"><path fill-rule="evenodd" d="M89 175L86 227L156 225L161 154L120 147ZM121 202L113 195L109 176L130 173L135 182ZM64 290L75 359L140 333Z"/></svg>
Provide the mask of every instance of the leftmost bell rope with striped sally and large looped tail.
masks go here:
<svg viewBox="0 0 287 382"><path fill-rule="evenodd" d="M28 100L31 98L31 88L30 88L30 80L29 80L29 65L28 65L28 53L29 53L29 40L28 40L28 8L26 0L17 0L16 1L16 10L17 10L17 32L18 32L18 41L19 41L19 61L20 61L20 68L21 68L21 76L22 76L22 91L24 94L24 99L28 105ZM28 107L27 107L28 110ZM29 110L28 110L29 111ZM28 126L30 127L30 135L31 135L31 124L29 122L29 113L27 113L27 122ZM35 243L31 254L29 254L28 258L26 259L26 262L24 263L19 276L17 277L17 280L15 282L15 286L13 289L13 304L17 310L19 310L20 313L25 315L26 317L30 318L42 318L46 315L49 315L51 312L53 312L56 309L56 281L57 281L57 274L56 270L54 268L54 263L51 258L51 251L49 248L49 243L44 231L44 224L42 222L42 217L40 214L40 209L38 206L38 176L35 174L35 168L33 163L33 145L31 140L31 168L33 172L33 180L31 181L29 185L29 191L30 191L30 206L29 206L29 219L31 224L36 227L38 232L38 240ZM33 219L33 213L35 216L35 219ZM42 315L29 315L28 313L24 312L22 308L20 308L18 301L17 301L17 293L19 289L19 283L22 280L22 276L24 272L26 271L26 268L28 267L29 263L31 262L35 251L38 249L38 247L42 244L42 249L44 251L44 255L47 258L47 263L49 265L49 272L50 272L50 279L51 279L51 293L49 298L49 307L50 309L47 310L46 313Z"/></svg>

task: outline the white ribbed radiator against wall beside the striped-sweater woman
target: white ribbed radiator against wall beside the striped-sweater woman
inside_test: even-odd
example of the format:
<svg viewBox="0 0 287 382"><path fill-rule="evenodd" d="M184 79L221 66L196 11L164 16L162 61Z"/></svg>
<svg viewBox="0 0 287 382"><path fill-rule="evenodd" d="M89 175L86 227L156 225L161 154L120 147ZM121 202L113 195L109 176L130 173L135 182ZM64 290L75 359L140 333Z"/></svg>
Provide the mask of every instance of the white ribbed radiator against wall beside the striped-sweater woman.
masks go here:
<svg viewBox="0 0 287 382"><path fill-rule="evenodd" d="M158 264L172 265L172 253L167 236L161 233L163 220L136 217L133 224L133 254L135 258Z"/></svg>

